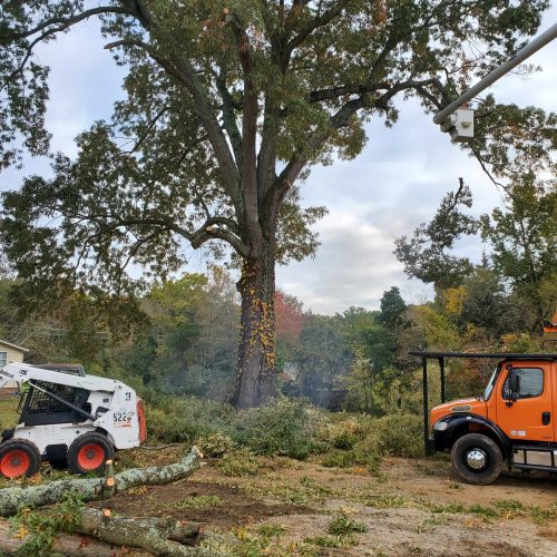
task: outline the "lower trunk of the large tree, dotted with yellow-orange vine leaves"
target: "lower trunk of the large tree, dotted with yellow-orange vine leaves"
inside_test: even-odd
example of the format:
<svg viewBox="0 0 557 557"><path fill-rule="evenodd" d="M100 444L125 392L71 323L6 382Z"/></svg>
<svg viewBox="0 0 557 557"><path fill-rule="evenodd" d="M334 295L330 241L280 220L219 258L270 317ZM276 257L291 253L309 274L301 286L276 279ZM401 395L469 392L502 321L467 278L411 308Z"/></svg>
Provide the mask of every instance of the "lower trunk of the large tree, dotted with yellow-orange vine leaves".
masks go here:
<svg viewBox="0 0 557 557"><path fill-rule="evenodd" d="M251 408L276 397L275 254L266 247L244 260L237 289L242 296L238 369L233 404Z"/></svg>

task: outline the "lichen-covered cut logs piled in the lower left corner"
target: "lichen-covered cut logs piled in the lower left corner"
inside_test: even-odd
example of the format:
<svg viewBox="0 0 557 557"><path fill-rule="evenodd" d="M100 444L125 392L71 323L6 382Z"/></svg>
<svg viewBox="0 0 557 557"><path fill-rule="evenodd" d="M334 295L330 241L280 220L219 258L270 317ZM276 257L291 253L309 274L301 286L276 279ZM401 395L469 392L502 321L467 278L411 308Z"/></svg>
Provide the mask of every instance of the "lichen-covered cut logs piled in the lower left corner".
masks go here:
<svg viewBox="0 0 557 557"><path fill-rule="evenodd" d="M50 505L72 492L84 501L101 500L137 486L165 485L188 477L199 468L201 452L196 447L179 461L165 467L133 468L114 473L107 462L104 478L74 478L41 486L7 488L0 491L0 515L16 515L21 508ZM48 514L48 510L47 510ZM109 509L85 508L71 532L55 540L52 551L62 555L114 556L123 548L140 548L152 555L190 556L215 555L194 547L203 538L205 524L165 518L129 518L113 516ZM6 519L0 519L0 553L13 554L28 541L29 532L16 536ZM144 554L145 555L145 554Z"/></svg>

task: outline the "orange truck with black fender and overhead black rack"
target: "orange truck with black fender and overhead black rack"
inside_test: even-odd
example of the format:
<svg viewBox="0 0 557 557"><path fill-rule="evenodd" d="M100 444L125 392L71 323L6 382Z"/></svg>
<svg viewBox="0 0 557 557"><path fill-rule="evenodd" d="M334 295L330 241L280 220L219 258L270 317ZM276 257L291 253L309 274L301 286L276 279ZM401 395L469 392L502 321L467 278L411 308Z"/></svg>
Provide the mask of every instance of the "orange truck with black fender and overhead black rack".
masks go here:
<svg viewBox="0 0 557 557"><path fill-rule="evenodd" d="M469 483L491 483L504 468L557 472L557 354L411 354L422 359L427 453L450 451L455 470ZM444 401L448 358L498 362L481 395ZM429 413L431 360L439 362L442 404Z"/></svg>

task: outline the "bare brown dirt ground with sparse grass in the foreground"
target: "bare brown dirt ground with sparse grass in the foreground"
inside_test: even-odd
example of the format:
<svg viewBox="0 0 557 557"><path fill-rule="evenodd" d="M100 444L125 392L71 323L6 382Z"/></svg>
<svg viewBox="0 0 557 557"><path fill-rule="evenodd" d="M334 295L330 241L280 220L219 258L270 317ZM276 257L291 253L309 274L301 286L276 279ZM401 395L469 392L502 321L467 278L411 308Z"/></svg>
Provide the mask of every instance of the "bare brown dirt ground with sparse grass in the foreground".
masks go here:
<svg viewBox="0 0 557 557"><path fill-rule="evenodd" d="M172 458L170 450L156 459ZM237 545L217 549L235 555L557 556L557 478L504 475L469 486L439 458L390 459L375 475L260 459L255 475L236 477L209 459L188 480L109 502L130 516L170 515L232 532ZM332 535L339 517L365 531Z"/></svg>

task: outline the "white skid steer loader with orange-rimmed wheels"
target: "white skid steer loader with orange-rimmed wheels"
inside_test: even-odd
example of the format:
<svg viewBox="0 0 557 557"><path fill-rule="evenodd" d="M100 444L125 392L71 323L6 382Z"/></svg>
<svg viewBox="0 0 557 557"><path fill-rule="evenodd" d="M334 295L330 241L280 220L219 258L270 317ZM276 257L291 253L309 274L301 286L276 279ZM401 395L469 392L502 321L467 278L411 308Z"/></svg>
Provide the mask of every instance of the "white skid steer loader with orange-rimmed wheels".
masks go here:
<svg viewBox="0 0 557 557"><path fill-rule="evenodd" d="M0 442L0 473L33 476L41 460L68 466L74 473L98 473L115 449L139 447L147 437L143 401L134 389L111 379L63 373L9 363L0 369L0 389L27 383L16 428ZM70 370L66 370L70 371Z"/></svg>

